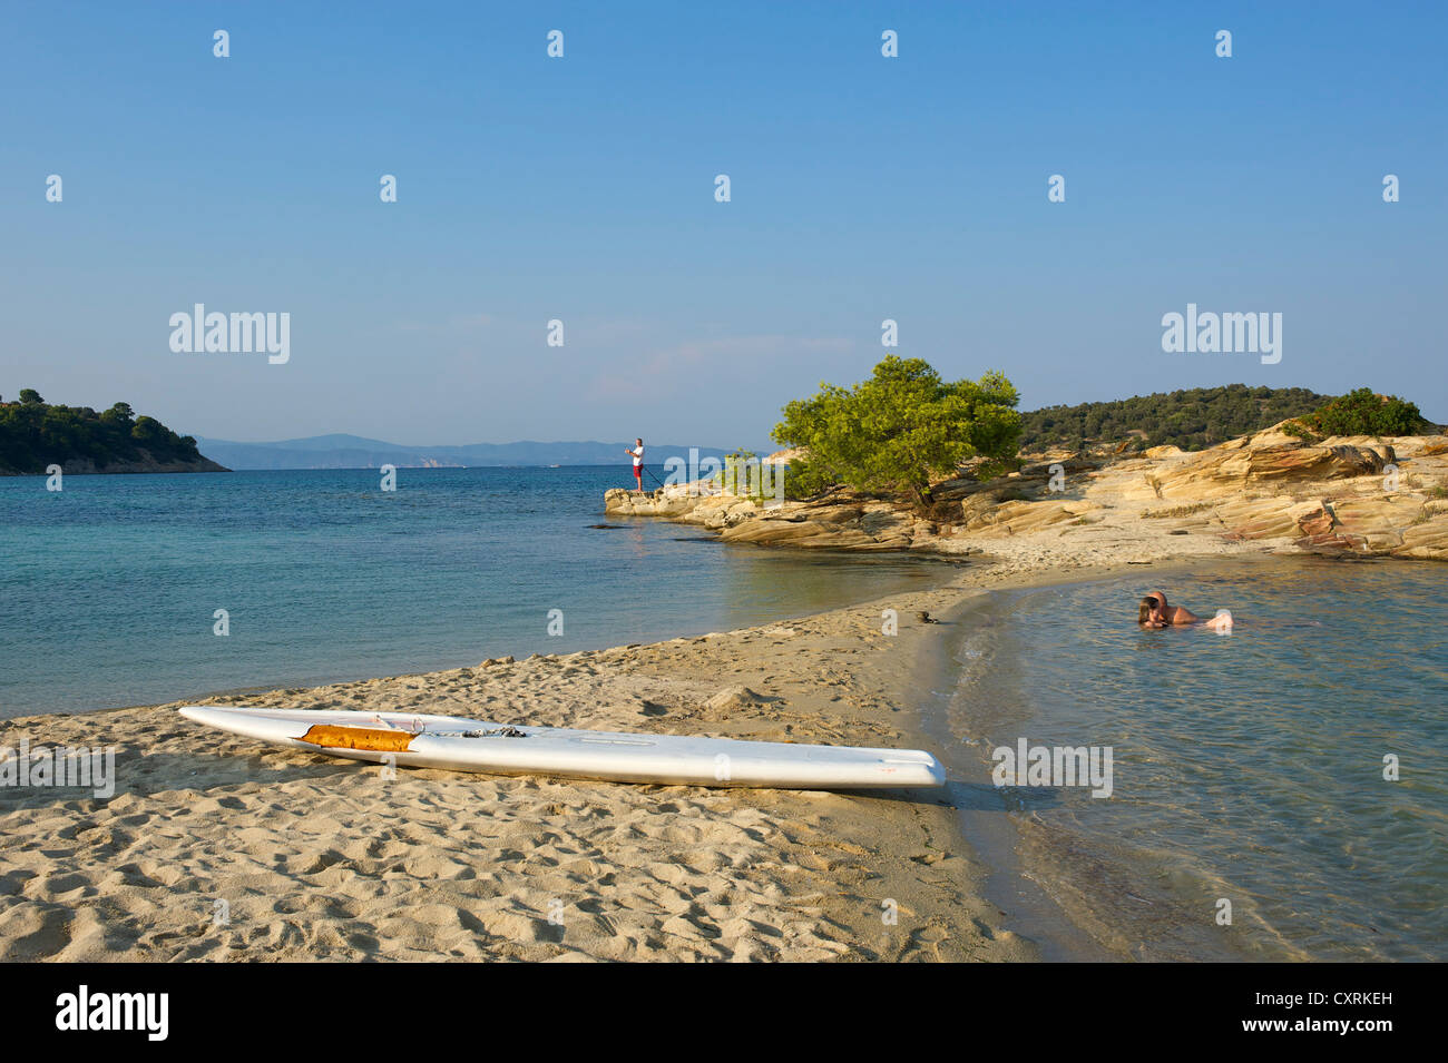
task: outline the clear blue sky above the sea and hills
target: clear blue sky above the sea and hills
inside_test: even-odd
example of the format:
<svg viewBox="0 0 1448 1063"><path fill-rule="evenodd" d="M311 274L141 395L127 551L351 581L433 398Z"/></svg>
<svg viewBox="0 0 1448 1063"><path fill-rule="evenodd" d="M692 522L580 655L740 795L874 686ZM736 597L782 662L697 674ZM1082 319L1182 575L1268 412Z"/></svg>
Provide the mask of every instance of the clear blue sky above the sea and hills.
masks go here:
<svg viewBox="0 0 1448 1063"><path fill-rule="evenodd" d="M893 318L1024 408L1241 380L1448 421L1445 36L1444 4L12 0L0 393L759 445ZM290 312L291 360L172 353L195 302ZM1281 362L1163 353L1189 302L1281 312Z"/></svg>

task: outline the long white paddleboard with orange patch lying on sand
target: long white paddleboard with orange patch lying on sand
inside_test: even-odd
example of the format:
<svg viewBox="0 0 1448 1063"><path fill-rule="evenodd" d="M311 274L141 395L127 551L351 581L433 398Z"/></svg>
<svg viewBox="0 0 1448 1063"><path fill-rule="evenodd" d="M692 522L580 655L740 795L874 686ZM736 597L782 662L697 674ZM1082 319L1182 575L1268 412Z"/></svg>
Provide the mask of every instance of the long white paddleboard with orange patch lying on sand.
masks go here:
<svg viewBox="0 0 1448 1063"><path fill-rule="evenodd" d="M456 716L185 706L197 723L329 756L495 775L566 775L699 787L872 790L938 787L940 761L919 749L738 742Z"/></svg>

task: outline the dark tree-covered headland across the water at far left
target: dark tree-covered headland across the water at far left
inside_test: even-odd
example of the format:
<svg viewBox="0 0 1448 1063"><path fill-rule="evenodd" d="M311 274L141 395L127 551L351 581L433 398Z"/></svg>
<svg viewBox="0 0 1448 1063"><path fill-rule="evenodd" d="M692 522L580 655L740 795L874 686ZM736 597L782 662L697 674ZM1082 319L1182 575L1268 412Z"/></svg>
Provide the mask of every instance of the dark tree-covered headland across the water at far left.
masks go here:
<svg viewBox="0 0 1448 1063"><path fill-rule="evenodd" d="M19 402L0 401L0 476L67 473L223 473L152 417L117 402L103 414L90 406L52 406L32 388Z"/></svg>

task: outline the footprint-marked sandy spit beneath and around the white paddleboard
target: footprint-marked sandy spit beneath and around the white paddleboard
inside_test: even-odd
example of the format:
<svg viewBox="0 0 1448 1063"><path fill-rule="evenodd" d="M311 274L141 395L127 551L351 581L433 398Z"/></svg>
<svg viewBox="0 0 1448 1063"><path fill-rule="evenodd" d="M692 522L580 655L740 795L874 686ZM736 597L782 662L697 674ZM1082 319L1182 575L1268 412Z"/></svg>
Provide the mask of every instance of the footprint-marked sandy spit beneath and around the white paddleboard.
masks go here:
<svg viewBox="0 0 1448 1063"><path fill-rule="evenodd" d="M917 613L948 616L992 586L1105 576L1124 551L1058 542L1018 537L944 587L789 623L200 703L930 748L919 709L950 626ZM1127 555L1180 561L1184 548L1142 541ZM885 609L898 635L882 633ZM201 729L177 704L0 725L3 746L114 746L117 775L109 798L0 790L0 957L1038 957L985 900L990 869L947 791L388 780Z"/></svg>

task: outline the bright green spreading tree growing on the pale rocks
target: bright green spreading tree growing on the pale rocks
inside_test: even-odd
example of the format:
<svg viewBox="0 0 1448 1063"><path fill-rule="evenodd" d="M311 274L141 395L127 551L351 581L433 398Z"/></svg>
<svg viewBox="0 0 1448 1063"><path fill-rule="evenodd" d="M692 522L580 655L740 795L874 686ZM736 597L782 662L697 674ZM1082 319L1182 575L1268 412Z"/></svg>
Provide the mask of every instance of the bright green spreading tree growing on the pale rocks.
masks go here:
<svg viewBox="0 0 1448 1063"><path fill-rule="evenodd" d="M950 476L969 457L1015 454L1019 395L1001 373L979 380L941 380L922 359L893 354L853 388L821 383L820 392L783 409L775 443L804 447L791 463L795 493L833 483L905 495L930 512L931 479Z"/></svg>

